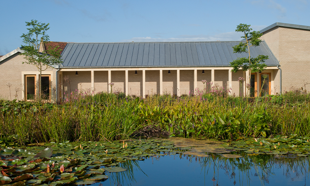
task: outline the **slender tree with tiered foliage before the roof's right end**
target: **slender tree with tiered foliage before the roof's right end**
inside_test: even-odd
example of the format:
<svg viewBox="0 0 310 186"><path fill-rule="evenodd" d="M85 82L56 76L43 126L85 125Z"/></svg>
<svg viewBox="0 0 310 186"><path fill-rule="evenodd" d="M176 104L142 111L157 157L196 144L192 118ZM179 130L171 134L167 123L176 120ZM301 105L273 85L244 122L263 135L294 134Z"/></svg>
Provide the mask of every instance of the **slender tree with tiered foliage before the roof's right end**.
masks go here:
<svg viewBox="0 0 310 186"><path fill-rule="evenodd" d="M237 25L236 32L243 32L244 36L241 36L241 38L245 38L246 42L240 42L238 45L232 47L234 53L242 53L246 52L249 54L249 58L242 57L237 58L237 60L233 60L230 63L230 66L233 68L232 72L237 72L240 70L240 68L244 70L249 70L249 77L251 78L251 71L253 72L262 72L266 68L266 64L264 63L265 60L268 59L268 55L258 55L257 57L253 58L250 55L250 47L257 47L259 46L259 43L262 42L260 40L260 36L262 36L262 33L259 33L259 31L252 31L250 29L250 24L239 24ZM250 45L250 44L251 45ZM249 81L250 81L249 78Z"/></svg>

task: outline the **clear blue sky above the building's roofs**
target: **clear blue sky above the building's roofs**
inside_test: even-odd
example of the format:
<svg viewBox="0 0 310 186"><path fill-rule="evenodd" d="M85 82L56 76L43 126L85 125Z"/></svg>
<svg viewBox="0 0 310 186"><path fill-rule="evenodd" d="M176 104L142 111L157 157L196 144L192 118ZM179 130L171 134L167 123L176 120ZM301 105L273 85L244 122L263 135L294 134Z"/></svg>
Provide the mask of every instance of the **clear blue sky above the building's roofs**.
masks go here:
<svg viewBox="0 0 310 186"><path fill-rule="evenodd" d="M261 30L310 26L310 0L1 0L0 55L23 45L25 22L49 23L57 42L239 41L240 23Z"/></svg>

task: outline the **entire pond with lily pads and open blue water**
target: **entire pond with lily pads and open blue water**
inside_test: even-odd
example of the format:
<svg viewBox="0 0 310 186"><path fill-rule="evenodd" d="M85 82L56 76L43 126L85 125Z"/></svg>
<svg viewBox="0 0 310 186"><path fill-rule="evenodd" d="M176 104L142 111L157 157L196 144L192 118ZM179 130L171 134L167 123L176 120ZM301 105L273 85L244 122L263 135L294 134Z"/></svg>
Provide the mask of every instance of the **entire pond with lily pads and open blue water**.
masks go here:
<svg viewBox="0 0 310 186"><path fill-rule="evenodd" d="M0 185L310 185L308 138L0 140Z"/></svg>

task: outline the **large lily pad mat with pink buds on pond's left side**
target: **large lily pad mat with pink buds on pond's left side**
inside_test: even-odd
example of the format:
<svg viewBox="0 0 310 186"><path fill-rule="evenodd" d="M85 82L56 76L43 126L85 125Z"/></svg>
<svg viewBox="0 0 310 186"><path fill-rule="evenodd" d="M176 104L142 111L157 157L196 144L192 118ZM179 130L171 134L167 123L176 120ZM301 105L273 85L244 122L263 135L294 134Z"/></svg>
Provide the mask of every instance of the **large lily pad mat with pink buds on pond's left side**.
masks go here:
<svg viewBox="0 0 310 186"><path fill-rule="evenodd" d="M119 162L181 153L165 139L30 144L14 148L0 141L0 185L86 185L123 172ZM11 144L12 145L12 144Z"/></svg>

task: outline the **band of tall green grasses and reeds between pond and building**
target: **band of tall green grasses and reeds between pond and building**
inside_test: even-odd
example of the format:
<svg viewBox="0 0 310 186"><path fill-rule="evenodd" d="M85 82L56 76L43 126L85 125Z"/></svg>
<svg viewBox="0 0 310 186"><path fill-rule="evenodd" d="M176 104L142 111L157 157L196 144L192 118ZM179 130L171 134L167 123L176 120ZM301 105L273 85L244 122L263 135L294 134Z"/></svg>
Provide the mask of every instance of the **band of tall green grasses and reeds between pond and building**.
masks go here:
<svg viewBox="0 0 310 186"><path fill-rule="evenodd" d="M20 144L115 140L135 137L147 127L195 138L306 135L309 100L309 94L296 92L244 98L215 91L146 99L123 93L73 94L61 104L0 100L0 137L17 135Z"/></svg>

